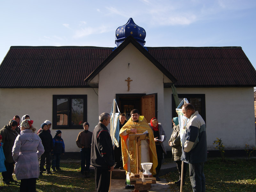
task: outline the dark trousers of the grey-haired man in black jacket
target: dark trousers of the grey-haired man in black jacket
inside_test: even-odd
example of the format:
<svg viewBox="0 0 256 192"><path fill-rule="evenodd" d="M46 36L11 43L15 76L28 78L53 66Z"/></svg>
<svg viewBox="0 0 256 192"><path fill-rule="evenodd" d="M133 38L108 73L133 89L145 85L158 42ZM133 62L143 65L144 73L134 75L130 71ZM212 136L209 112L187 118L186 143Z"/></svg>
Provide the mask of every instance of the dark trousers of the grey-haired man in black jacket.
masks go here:
<svg viewBox="0 0 256 192"><path fill-rule="evenodd" d="M110 184L110 171L95 167L95 191L108 192Z"/></svg>

